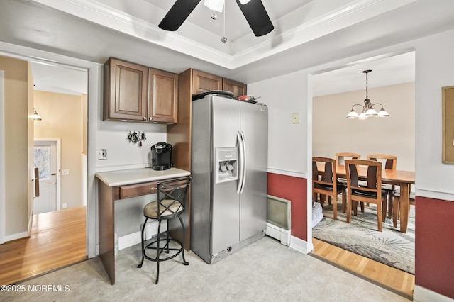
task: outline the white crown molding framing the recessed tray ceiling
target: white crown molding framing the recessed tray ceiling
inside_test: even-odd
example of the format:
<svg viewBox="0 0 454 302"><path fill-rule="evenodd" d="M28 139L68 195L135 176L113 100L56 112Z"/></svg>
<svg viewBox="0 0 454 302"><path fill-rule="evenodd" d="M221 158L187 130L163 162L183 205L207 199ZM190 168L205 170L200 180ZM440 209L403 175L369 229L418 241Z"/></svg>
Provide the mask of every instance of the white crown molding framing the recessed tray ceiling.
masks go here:
<svg viewBox="0 0 454 302"><path fill-rule="evenodd" d="M382 13L387 13L401 6L410 4L416 0L354 0L341 9L314 18L311 21L301 24L297 28L287 30L284 33L271 36L261 43L246 46L244 50L233 55L213 47L208 47L195 40L190 40L175 32L161 30L157 26L140 18L131 16L123 11L113 9L109 6L92 0L33 0L39 4L50 6L53 9L70 13L87 21L97 23L101 26L117 30L118 32L131 35L135 38L145 40L155 45L160 45L184 55L196 57L206 62L236 69L252 62L262 60L265 57L275 55L292 47L297 47L316 40L324 35L334 33L356 23L366 21ZM323 3L319 4L323 5ZM156 8L157 9L157 8ZM285 18L285 16L283 17ZM197 26L194 26L199 28ZM201 29L203 30L203 29ZM208 34L208 33L207 33ZM250 33L243 38L233 42L235 47L247 45L254 38ZM246 43L246 41L248 41ZM244 46L243 46L244 47Z"/></svg>

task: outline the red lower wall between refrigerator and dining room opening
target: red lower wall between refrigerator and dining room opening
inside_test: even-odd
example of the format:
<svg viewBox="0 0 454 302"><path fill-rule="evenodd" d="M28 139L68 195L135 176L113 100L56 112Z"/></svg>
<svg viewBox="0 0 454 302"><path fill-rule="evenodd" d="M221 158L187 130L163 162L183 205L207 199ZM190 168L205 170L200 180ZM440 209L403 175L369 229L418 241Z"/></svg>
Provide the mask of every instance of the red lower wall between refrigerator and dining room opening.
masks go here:
<svg viewBox="0 0 454 302"><path fill-rule="evenodd" d="M292 201L292 236L307 241L307 179L268 173L268 194Z"/></svg>

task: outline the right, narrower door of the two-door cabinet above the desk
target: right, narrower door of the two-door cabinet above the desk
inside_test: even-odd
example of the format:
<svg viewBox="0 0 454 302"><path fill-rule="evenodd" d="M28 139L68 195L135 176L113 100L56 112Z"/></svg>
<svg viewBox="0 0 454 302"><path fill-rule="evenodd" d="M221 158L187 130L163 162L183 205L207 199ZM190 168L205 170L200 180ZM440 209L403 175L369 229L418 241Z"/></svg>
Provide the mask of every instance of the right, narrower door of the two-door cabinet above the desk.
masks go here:
<svg viewBox="0 0 454 302"><path fill-rule="evenodd" d="M178 74L148 69L148 121L177 123Z"/></svg>

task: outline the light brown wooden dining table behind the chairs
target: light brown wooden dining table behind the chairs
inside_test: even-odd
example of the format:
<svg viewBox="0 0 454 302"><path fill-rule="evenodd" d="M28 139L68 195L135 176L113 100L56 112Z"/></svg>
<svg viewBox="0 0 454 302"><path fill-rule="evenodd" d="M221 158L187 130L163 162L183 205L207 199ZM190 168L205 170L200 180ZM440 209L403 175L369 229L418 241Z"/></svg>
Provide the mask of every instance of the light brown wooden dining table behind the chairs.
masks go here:
<svg viewBox="0 0 454 302"><path fill-rule="evenodd" d="M317 164L319 173L323 173L325 167L323 164ZM336 176L339 178L346 178L345 166L336 165ZM367 168L360 167L358 169L358 177L365 179L367 176ZM394 184L400 187L399 203L393 209L393 225L397 227L397 220L400 216L400 231L406 233L409 223L410 214L410 189L411 184L414 184L414 172L404 170L382 169L382 184ZM394 206L394 205L393 205ZM397 213L397 207L399 213Z"/></svg>

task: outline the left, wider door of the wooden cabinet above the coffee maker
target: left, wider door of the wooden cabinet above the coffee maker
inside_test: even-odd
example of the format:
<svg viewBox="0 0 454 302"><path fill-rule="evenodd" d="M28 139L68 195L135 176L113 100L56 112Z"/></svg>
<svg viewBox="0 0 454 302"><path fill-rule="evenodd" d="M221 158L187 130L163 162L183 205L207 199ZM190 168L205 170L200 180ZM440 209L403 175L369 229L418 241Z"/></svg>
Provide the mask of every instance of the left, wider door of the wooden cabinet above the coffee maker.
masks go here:
<svg viewBox="0 0 454 302"><path fill-rule="evenodd" d="M104 65L104 120L147 120L148 67L114 58Z"/></svg>

